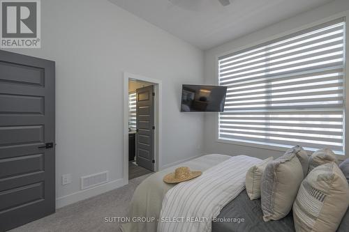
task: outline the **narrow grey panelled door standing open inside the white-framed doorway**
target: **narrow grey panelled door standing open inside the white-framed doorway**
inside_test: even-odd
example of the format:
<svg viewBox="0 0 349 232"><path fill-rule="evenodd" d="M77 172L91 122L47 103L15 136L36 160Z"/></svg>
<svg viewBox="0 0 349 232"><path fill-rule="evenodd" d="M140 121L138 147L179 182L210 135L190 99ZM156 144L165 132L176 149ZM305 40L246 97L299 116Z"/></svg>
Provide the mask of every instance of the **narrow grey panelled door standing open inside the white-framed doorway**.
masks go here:
<svg viewBox="0 0 349 232"><path fill-rule="evenodd" d="M136 90L136 162L154 171L154 87Z"/></svg>

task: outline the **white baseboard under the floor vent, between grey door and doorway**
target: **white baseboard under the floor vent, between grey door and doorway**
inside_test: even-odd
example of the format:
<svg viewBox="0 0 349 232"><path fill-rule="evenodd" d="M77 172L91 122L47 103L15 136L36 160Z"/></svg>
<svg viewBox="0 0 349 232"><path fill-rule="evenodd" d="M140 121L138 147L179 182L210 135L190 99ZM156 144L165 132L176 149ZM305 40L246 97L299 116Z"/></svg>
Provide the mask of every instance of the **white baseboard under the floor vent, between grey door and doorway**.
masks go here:
<svg viewBox="0 0 349 232"><path fill-rule="evenodd" d="M103 194L110 190L114 190L118 187L124 185L124 179L112 180L103 185L97 185L95 187L91 187L86 190L81 190L78 192L73 192L72 194L68 194L66 196L60 196L56 199L56 208L62 208L64 206L68 206L77 201L82 201L84 199L89 199L92 196L97 196L99 194Z"/></svg>

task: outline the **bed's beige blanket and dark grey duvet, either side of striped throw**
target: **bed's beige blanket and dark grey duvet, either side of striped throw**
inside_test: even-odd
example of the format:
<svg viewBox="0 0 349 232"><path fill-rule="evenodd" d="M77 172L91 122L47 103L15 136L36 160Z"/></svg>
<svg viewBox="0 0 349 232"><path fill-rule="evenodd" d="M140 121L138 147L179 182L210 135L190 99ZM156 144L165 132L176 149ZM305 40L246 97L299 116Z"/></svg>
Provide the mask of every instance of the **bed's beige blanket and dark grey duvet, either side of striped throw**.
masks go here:
<svg viewBox="0 0 349 232"><path fill-rule="evenodd" d="M192 170L206 171L222 162L230 159L228 155L204 155L194 160L178 164L174 167L164 169L154 173L145 179L135 190L131 201L130 218L147 219L154 218L148 222L128 222L121 225L123 232L156 232L160 217L162 201L165 194L174 187L174 185L163 182L163 176L166 173L174 171L177 167L186 166ZM244 219L244 222L223 222L223 219ZM222 220L220 220L222 219ZM346 231L349 226L349 213L343 218L340 232ZM264 222L262 219L262 210L260 199L251 201L248 199L246 190L241 192L235 199L224 206L217 217L217 222L211 223L212 232L241 232L241 231L295 231L292 219L292 212L287 217L279 221Z"/></svg>

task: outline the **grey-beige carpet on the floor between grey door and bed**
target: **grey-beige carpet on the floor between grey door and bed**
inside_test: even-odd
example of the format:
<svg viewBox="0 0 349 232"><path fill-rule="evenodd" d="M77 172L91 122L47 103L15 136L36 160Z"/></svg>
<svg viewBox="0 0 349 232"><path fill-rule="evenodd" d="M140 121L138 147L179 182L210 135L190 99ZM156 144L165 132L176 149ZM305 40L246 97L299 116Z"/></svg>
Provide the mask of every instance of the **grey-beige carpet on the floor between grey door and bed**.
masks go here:
<svg viewBox="0 0 349 232"><path fill-rule="evenodd" d="M135 188L149 175L129 180L128 185L116 190L79 201L58 209L53 215L43 217L11 232L75 232L119 231L119 223L104 222L104 217L124 217Z"/></svg>

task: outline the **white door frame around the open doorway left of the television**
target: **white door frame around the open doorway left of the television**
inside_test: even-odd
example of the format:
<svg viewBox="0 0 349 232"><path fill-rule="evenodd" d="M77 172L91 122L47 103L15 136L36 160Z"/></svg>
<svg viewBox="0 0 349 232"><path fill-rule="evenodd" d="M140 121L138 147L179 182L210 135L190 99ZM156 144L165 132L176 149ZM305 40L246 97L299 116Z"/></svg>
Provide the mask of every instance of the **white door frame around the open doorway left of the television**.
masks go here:
<svg viewBox="0 0 349 232"><path fill-rule="evenodd" d="M128 81L139 80L154 84L154 171L161 167L161 134L162 134L162 82L159 79L124 72L124 185L128 184Z"/></svg>

